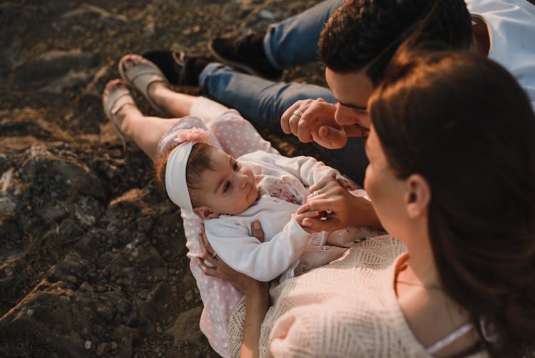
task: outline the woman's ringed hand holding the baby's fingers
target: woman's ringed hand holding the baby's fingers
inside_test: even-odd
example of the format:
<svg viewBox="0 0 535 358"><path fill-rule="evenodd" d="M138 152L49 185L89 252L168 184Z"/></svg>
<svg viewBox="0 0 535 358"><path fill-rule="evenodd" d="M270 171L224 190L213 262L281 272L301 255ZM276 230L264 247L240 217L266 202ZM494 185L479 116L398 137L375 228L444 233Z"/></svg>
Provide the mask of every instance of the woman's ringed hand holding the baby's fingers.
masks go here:
<svg viewBox="0 0 535 358"><path fill-rule="evenodd" d="M335 176L322 180L310 187L307 203L297 209L297 214L317 211L316 217L302 219L302 225L315 231L334 232L354 225L381 227L372 204L362 197L348 192L352 184ZM328 214L327 214L328 213Z"/></svg>

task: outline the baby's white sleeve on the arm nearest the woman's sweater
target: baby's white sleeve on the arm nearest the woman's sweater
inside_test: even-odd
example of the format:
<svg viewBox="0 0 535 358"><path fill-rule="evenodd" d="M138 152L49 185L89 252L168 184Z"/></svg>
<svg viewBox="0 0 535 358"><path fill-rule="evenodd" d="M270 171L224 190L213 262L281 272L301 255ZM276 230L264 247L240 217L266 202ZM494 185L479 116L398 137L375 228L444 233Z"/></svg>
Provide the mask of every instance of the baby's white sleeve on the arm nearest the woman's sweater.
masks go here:
<svg viewBox="0 0 535 358"><path fill-rule="evenodd" d="M206 237L220 259L238 272L268 282L295 262L307 245L309 234L290 219L269 242L251 237L249 229L234 222L208 221Z"/></svg>

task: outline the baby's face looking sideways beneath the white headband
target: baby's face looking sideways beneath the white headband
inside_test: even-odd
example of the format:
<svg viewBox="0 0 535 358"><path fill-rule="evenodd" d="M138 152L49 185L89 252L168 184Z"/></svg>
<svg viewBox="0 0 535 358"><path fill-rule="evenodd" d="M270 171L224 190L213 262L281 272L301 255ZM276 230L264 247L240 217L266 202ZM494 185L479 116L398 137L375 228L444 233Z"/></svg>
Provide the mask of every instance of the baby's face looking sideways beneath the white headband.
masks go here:
<svg viewBox="0 0 535 358"><path fill-rule="evenodd" d="M203 171L200 188L191 193L196 202L218 214L239 214L255 202L258 187L249 166L215 148L210 153L210 164L213 170Z"/></svg>

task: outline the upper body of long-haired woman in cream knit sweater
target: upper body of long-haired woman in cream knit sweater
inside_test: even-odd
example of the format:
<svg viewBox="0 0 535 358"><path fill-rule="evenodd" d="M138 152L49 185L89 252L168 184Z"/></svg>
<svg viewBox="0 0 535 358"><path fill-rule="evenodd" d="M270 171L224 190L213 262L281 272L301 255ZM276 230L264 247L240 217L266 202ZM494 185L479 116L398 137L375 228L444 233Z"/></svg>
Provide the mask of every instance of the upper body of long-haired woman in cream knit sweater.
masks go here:
<svg viewBox="0 0 535 358"><path fill-rule="evenodd" d="M216 268L199 260L203 272L245 292L230 339L239 345L243 329L242 356L533 356L526 94L501 66L464 52L402 53L385 79L369 102L365 189L399 241L369 239L272 288L269 311L265 285L205 254Z"/></svg>

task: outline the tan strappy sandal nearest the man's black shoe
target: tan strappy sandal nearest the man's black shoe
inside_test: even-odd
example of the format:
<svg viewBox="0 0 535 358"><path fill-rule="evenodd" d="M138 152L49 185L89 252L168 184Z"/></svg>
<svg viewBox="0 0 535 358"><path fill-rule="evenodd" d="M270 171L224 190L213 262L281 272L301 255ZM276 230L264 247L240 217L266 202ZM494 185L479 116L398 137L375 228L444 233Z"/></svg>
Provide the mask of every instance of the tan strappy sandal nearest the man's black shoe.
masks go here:
<svg viewBox="0 0 535 358"><path fill-rule="evenodd" d="M128 58L132 58L132 56L138 56L141 63L131 67L130 69L126 69L124 62ZM129 86L143 94L148 103L151 104L153 109L155 109L158 114L165 117L168 116L168 114L158 107L156 102L151 99L151 96L148 95L148 86L154 82L163 82L165 86L170 87L169 81L165 78L162 71L158 68L158 66L156 66L156 64L153 64L151 61L148 61L148 59L145 59L142 56L128 54L123 56L121 61L119 61L119 73L121 74L121 78Z"/></svg>

